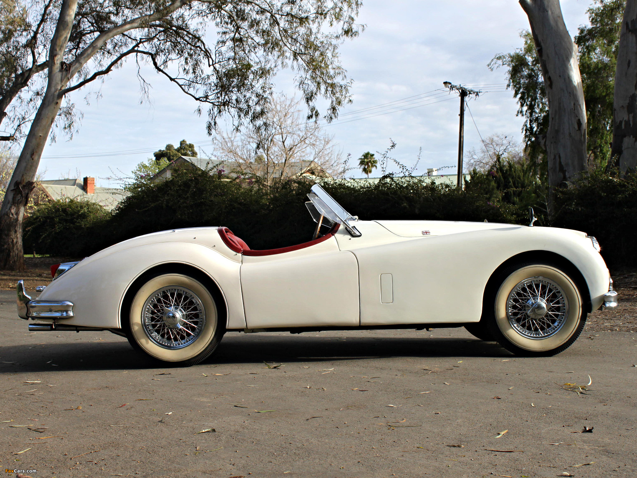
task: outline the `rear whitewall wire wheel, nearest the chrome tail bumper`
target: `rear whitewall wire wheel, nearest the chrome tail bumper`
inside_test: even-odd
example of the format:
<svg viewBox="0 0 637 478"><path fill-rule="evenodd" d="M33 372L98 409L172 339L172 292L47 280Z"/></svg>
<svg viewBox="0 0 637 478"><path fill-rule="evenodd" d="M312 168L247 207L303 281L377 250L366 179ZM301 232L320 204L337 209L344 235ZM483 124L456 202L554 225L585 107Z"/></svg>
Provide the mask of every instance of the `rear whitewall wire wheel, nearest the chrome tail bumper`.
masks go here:
<svg viewBox="0 0 637 478"><path fill-rule="evenodd" d="M219 321L221 304L197 279L165 272L147 278L129 312L127 337L135 349L185 366L215 351L225 332Z"/></svg>

